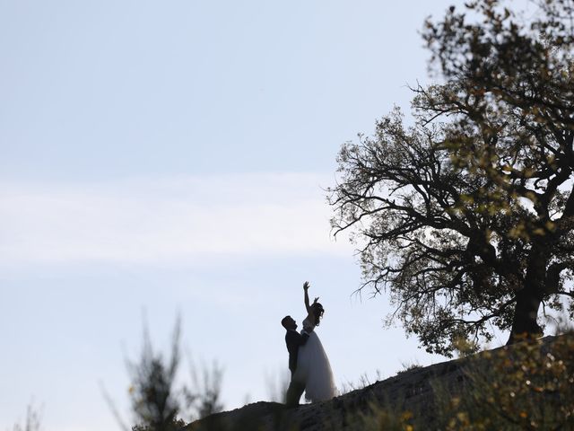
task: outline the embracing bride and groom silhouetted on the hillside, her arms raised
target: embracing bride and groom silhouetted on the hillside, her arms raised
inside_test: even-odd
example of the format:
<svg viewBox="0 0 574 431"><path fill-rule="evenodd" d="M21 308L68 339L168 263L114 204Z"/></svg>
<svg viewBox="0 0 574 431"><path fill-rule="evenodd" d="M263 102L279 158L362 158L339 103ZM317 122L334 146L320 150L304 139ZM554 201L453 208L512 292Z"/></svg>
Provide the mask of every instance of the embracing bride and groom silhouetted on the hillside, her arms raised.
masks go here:
<svg viewBox="0 0 574 431"><path fill-rule="evenodd" d="M303 283L307 317L303 320L303 330L297 331L297 322L291 316L281 321L287 330L285 343L289 352L291 382L287 389L285 405L297 407L303 391L305 399L311 402L330 400L336 395L333 372L325 349L318 338L315 328L323 317L323 305L315 298L309 305L309 282Z"/></svg>

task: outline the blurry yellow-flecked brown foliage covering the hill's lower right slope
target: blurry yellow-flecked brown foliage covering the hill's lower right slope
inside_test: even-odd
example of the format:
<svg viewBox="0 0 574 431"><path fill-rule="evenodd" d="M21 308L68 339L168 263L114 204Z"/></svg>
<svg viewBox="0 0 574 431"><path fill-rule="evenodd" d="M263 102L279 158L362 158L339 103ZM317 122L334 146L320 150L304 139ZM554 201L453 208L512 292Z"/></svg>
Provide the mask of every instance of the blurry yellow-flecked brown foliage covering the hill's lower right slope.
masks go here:
<svg viewBox="0 0 574 431"><path fill-rule="evenodd" d="M463 361L463 382L434 382L435 406L425 413L400 409L401 402L371 403L353 423L396 431L574 429L573 333L525 339Z"/></svg>

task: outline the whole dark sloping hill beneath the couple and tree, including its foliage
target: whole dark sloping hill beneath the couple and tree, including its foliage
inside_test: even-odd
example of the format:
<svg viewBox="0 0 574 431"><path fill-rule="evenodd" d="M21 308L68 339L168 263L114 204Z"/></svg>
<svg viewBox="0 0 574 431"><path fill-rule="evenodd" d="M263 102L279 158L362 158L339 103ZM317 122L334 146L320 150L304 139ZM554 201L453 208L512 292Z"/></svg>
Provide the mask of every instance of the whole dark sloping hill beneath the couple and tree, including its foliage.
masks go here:
<svg viewBox="0 0 574 431"><path fill-rule="evenodd" d="M415 368L333 400L297 409L260 401L184 429L502 429L505 420L504 429L574 429L573 362L571 335L546 337Z"/></svg>

